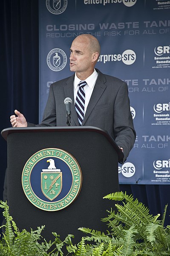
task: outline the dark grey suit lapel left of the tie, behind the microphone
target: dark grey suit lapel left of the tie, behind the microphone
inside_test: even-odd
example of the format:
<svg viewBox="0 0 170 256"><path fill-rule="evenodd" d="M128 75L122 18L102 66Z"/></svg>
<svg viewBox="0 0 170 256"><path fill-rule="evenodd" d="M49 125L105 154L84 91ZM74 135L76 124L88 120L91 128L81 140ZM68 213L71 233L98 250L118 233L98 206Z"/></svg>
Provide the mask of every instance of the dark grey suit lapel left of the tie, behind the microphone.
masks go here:
<svg viewBox="0 0 170 256"><path fill-rule="evenodd" d="M69 77L69 79L67 80L66 85L64 87L64 93L65 93L65 97L69 97L72 99L71 113L72 113L72 120L75 122L75 124L72 122L72 120L71 120L71 123L73 126L80 126L80 124L78 122L77 112L75 110L74 88L73 88L74 78L75 78L75 75Z"/></svg>

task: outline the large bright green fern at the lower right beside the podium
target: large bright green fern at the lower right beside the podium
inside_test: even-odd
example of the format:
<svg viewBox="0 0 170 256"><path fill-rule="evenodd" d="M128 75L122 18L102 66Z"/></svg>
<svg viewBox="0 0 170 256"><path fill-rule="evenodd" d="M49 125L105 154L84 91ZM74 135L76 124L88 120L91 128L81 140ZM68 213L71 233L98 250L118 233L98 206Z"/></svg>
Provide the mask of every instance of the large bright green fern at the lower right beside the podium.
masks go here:
<svg viewBox="0 0 170 256"><path fill-rule="evenodd" d="M121 201L115 204L117 212L108 211L109 215L102 221L107 222L110 232L81 227L79 230L88 236L79 244L78 251L84 248L82 256L168 256L170 255L170 226L164 227L167 206L162 220L160 214L150 215L144 204L133 199L126 192L115 192L104 198ZM89 236L90 235L90 236ZM93 244L85 246L85 241Z"/></svg>

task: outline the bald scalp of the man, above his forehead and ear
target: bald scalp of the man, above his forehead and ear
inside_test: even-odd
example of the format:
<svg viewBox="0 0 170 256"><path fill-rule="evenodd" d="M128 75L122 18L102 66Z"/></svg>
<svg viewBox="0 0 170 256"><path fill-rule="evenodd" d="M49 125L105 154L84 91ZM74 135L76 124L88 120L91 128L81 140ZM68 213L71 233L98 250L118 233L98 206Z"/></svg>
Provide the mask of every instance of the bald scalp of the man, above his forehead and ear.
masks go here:
<svg viewBox="0 0 170 256"><path fill-rule="evenodd" d="M99 57L101 47L100 47L100 44L99 44L99 41L97 40L97 38L95 38L93 35L83 34L83 35L78 35L74 39L74 41L77 41L77 40L86 43L86 46L89 47L89 50L92 53L98 52L98 57Z"/></svg>

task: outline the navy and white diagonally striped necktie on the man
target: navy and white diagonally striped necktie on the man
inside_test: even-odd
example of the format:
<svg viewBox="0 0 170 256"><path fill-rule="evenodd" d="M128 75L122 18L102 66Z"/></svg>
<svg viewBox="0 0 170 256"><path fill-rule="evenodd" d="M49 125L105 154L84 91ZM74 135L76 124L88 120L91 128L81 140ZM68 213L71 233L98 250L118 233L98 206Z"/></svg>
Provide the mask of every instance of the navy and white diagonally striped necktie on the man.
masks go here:
<svg viewBox="0 0 170 256"><path fill-rule="evenodd" d="M84 92L84 86L86 85L86 81L80 81L78 84L78 93L75 99L75 110L77 111L78 115L78 122L80 125L83 122L84 119L84 105L85 105L85 92Z"/></svg>

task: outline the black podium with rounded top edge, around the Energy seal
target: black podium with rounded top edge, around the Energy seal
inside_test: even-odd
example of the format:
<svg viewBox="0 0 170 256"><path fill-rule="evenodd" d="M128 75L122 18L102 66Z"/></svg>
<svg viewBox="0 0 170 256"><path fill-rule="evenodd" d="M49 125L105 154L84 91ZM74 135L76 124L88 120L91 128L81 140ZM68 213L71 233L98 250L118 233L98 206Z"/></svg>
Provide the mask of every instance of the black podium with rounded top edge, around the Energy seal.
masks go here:
<svg viewBox="0 0 170 256"><path fill-rule="evenodd" d="M42 236L53 239L56 232L63 240L74 234L73 243L84 234L79 227L105 231L107 226L101 218L113 202L104 195L119 190L118 161L123 153L112 138L94 127L38 127L7 128L1 132L7 140L8 156L8 205L10 215L22 230L35 230L45 225ZM78 161L82 172L81 191L68 207L58 211L44 211L26 198L21 184L24 165L35 152L43 148L61 148Z"/></svg>

